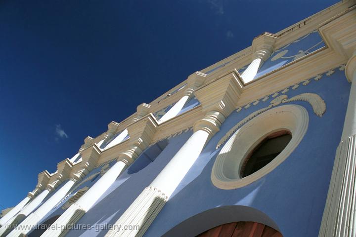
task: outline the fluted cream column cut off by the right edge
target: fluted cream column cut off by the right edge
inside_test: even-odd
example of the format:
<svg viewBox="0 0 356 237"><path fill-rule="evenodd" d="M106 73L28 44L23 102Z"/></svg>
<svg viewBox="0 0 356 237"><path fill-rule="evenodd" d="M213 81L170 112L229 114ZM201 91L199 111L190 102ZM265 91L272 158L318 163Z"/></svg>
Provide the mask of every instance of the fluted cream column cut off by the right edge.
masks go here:
<svg viewBox="0 0 356 237"><path fill-rule="evenodd" d="M356 51L346 65L345 73L352 81L349 103L319 237L356 236Z"/></svg>

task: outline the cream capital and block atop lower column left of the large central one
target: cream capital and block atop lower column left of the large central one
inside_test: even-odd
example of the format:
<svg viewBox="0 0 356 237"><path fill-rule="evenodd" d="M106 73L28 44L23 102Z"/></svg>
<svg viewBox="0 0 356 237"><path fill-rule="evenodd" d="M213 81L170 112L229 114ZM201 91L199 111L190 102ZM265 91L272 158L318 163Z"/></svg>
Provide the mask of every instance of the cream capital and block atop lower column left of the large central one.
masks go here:
<svg viewBox="0 0 356 237"><path fill-rule="evenodd" d="M152 114L131 123L127 129L130 134L129 149L119 155L118 160L133 162L146 149L156 133L158 123Z"/></svg>

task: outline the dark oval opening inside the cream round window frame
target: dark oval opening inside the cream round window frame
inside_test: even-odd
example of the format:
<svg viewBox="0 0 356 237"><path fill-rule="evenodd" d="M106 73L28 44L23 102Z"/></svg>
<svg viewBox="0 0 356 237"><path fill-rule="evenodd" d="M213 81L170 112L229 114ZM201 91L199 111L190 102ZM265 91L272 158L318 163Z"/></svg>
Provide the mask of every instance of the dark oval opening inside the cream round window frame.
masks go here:
<svg viewBox="0 0 356 237"><path fill-rule="evenodd" d="M247 156L241 168L241 177L262 169L276 158L292 139L289 131L278 131L267 136Z"/></svg>

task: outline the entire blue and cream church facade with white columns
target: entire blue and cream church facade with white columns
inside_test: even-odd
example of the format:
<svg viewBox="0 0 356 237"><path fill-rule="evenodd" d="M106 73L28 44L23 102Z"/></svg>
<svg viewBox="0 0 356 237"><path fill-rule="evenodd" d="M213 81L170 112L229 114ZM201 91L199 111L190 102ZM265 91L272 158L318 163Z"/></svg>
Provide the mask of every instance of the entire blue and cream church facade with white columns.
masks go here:
<svg viewBox="0 0 356 237"><path fill-rule="evenodd" d="M355 237L356 1L187 77L87 137L1 237Z"/></svg>

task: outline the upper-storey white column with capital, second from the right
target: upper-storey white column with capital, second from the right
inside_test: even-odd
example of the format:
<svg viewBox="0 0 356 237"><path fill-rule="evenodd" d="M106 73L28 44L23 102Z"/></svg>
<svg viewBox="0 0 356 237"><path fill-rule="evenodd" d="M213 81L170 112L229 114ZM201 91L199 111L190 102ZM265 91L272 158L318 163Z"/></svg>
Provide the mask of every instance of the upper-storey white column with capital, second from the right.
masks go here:
<svg viewBox="0 0 356 237"><path fill-rule="evenodd" d="M194 91L204 83L206 76L206 74L201 72L195 72L194 74L190 75L187 79L188 89L185 90L183 97L180 98L180 100L178 100L178 102L164 116L162 116L158 122L162 123L168 119L176 117L181 109L183 109L184 105L189 102L191 98L193 98Z"/></svg>

